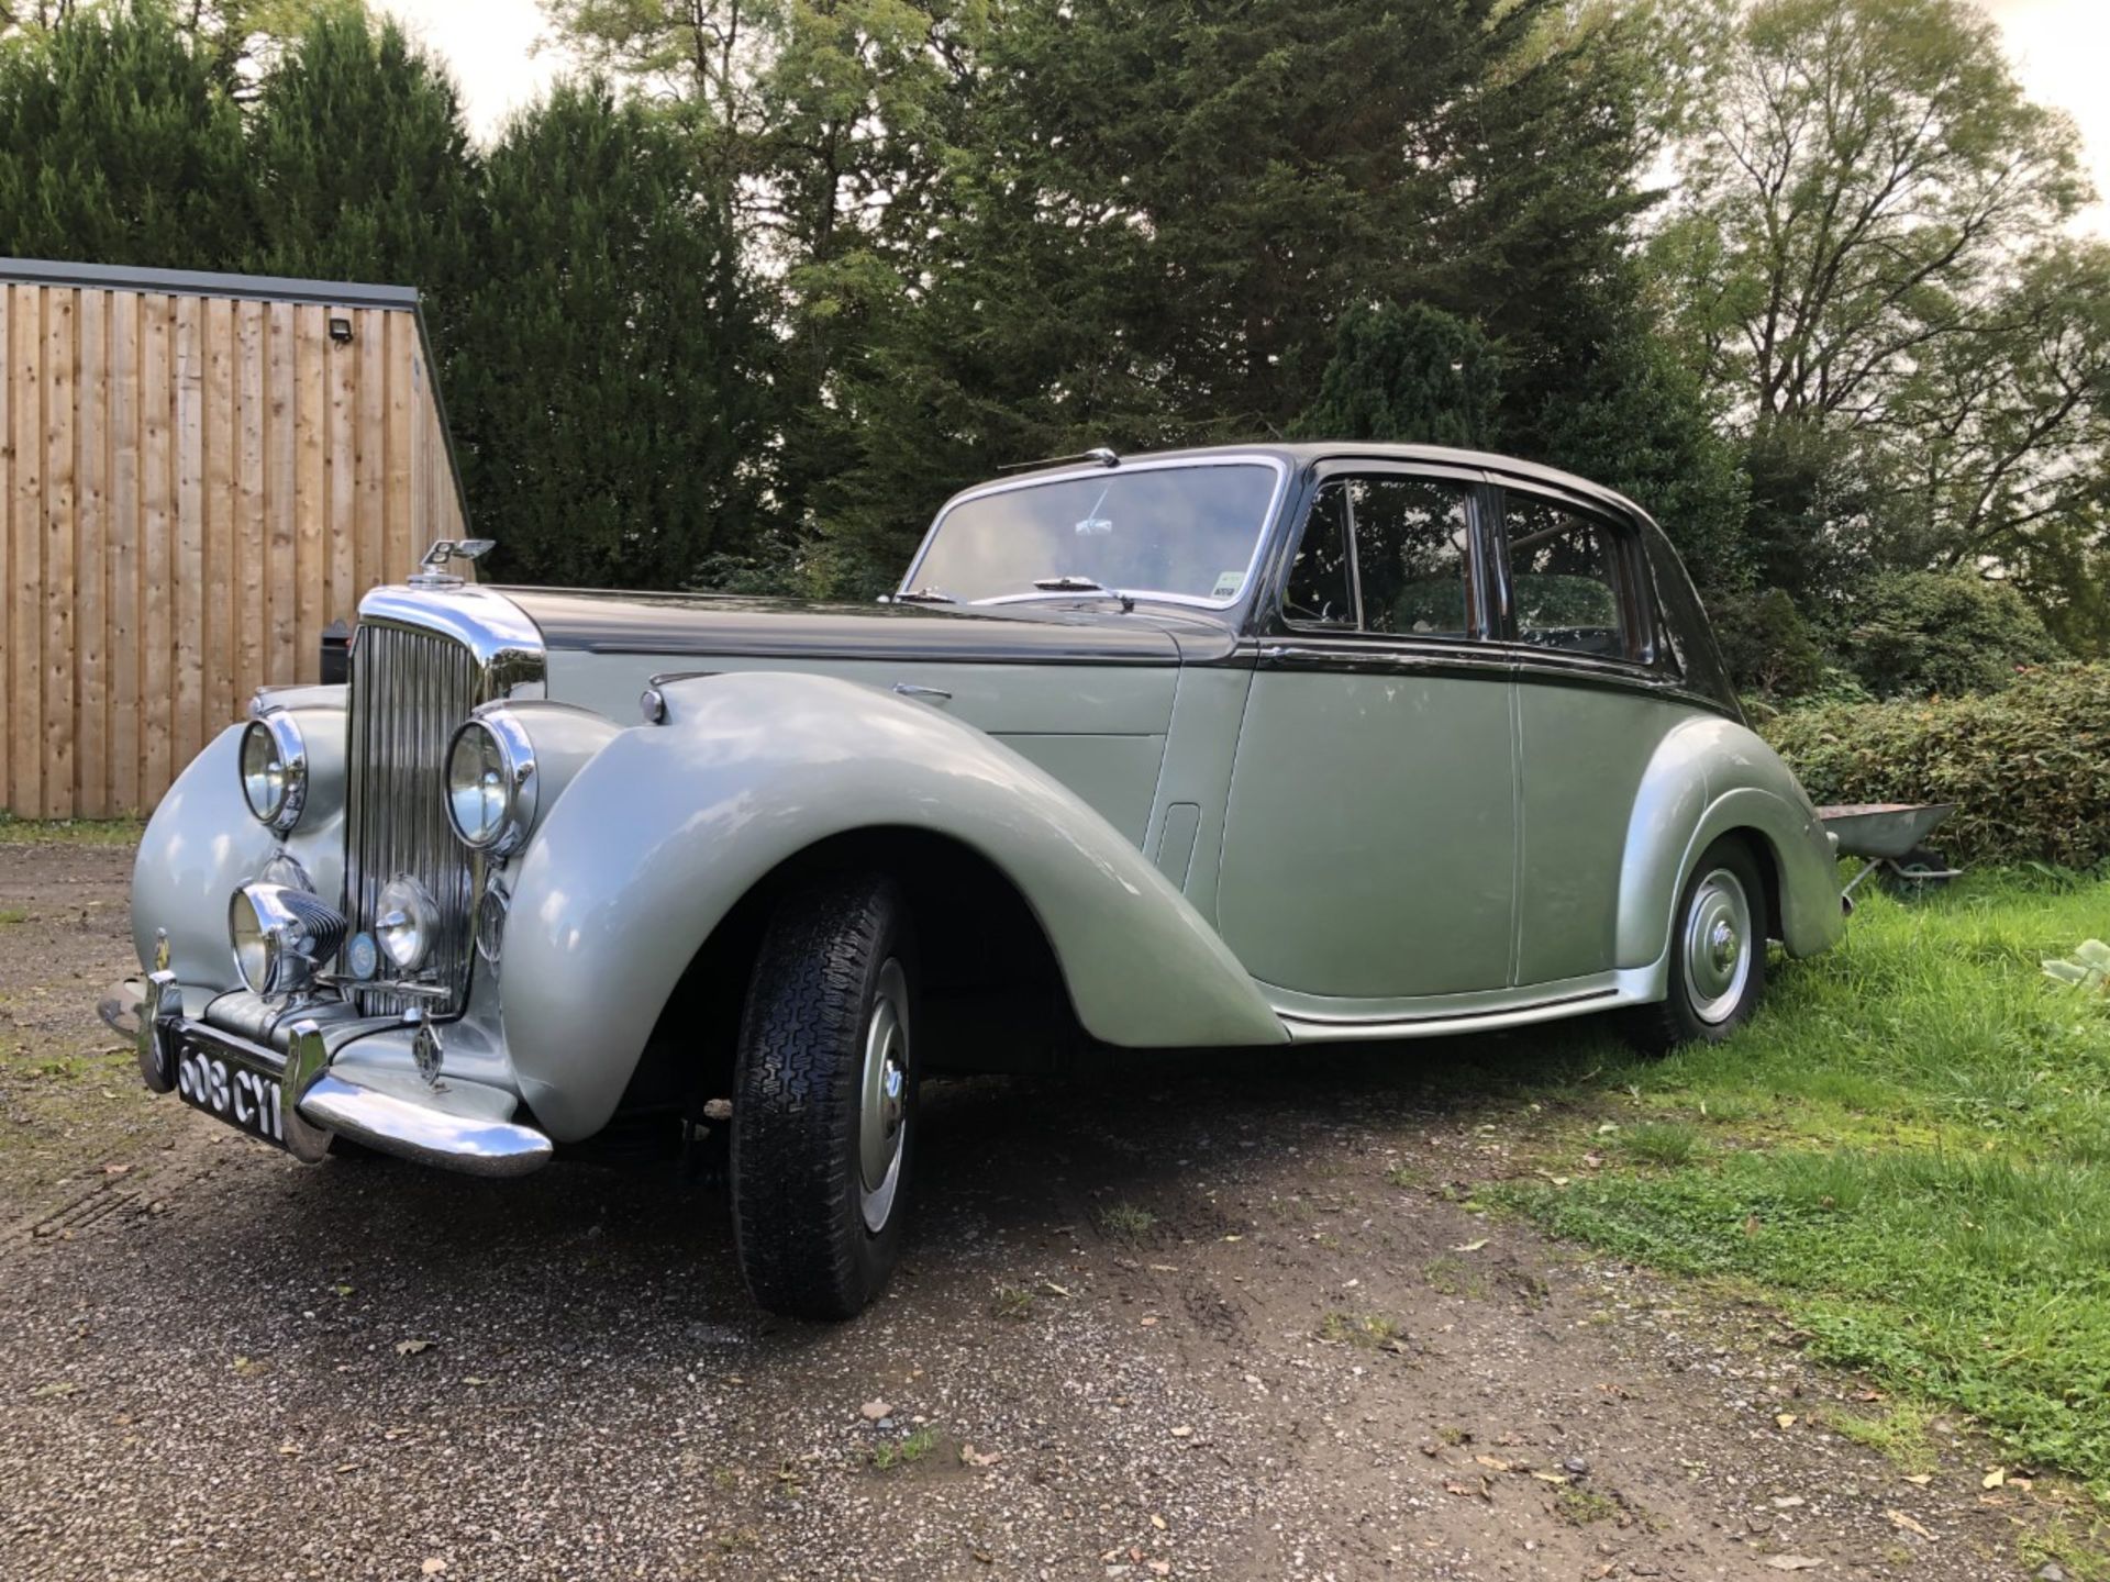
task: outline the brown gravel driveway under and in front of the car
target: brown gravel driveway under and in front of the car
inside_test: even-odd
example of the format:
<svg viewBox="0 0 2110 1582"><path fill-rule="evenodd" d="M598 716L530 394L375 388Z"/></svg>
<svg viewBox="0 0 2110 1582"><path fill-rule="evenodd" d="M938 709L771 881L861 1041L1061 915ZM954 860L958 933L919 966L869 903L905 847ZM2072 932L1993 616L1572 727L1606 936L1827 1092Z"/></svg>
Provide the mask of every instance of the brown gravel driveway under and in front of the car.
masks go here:
<svg viewBox="0 0 2110 1582"><path fill-rule="evenodd" d="M0 848L0 1576L2030 1574L1962 1430L1914 1483L1764 1306L1462 1207L1502 1116L1414 1072L1485 1046L935 1086L890 1295L808 1329L717 1194L148 1101L127 871Z"/></svg>

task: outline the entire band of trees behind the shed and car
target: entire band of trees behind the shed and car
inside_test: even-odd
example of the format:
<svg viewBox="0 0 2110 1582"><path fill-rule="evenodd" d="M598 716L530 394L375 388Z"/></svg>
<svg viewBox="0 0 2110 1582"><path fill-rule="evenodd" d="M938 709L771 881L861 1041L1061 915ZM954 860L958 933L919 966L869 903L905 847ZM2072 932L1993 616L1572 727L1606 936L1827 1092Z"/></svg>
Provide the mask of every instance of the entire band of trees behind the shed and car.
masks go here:
<svg viewBox="0 0 2110 1582"><path fill-rule="evenodd" d="M599 76L479 150L359 0L0 6L0 247L420 285L513 576L871 593L1006 462L1407 437L1635 498L1766 690L2110 643L2110 249L1964 0L544 11Z"/></svg>

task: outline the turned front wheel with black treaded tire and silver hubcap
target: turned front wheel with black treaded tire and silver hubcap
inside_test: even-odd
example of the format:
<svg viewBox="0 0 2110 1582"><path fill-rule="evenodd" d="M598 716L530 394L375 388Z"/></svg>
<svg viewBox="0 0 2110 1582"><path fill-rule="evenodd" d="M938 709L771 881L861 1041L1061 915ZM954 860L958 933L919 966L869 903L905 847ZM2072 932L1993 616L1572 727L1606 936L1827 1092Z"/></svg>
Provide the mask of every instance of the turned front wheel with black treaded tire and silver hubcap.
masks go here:
<svg viewBox="0 0 2110 1582"><path fill-rule="evenodd" d="M855 1318L893 1274L916 1162L914 983L907 903L880 873L798 890L764 932L741 1017L730 1175L741 1274L770 1312ZM874 1091L893 1074L899 1084L897 1103L871 1107L890 1169L867 1181L876 1038L897 1055L878 1057Z"/></svg>

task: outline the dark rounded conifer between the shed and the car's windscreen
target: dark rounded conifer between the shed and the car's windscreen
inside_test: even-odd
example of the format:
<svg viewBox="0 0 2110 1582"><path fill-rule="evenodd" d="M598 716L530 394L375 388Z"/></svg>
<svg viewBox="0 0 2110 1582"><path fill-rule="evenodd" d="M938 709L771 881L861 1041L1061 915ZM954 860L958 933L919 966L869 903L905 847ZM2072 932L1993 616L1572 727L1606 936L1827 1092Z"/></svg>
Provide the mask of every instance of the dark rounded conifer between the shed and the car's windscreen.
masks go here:
<svg viewBox="0 0 2110 1582"><path fill-rule="evenodd" d="M445 378L498 572L679 586L751 551L768 335L684 141L606 82L565 84L483 188Z"/></svg>

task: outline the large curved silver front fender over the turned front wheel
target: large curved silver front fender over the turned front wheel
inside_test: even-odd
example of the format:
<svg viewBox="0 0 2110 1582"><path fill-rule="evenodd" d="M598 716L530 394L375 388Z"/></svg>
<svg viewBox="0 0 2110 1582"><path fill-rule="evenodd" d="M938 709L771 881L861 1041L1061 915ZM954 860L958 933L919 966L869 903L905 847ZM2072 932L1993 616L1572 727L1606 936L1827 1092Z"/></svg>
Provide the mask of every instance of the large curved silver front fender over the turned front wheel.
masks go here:
<svg viewBox="0 0 2110 1582"><path fill-rule="evenodd" d="M1139 1048L1287 1042L1207 922L1120 831L937 709L823 675L665 686L528 846L504 947L521 1093L559 1141L608 1122L669 993L764 875L831 835L977 850L1047 930L1085 1029Z"/></svg>

